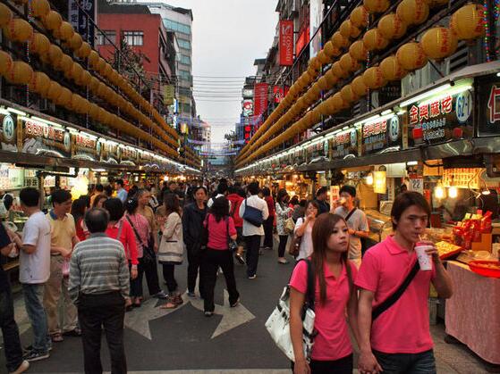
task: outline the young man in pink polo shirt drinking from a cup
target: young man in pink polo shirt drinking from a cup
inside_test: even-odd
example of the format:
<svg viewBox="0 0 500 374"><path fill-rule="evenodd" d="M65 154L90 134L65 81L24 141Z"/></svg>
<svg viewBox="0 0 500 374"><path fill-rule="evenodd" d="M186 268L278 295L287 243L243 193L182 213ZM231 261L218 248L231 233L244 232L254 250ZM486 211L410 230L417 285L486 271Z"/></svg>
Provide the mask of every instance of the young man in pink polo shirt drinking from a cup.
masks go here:
<svg viewBox="0 0 500 374"><path fill-rule="evenodd" d="M436 373L433 343L428 326L430 283L440 297L451 297L452 280L431 249L433 269L419 270L403 295L376 320L372 309L394 294L417 262L415 243L424 233L430 207L417 192L397 195L391 217L394 236L373 246L365 254L356 278L360 287L358 324L360 328L361 374Z"/></svg>

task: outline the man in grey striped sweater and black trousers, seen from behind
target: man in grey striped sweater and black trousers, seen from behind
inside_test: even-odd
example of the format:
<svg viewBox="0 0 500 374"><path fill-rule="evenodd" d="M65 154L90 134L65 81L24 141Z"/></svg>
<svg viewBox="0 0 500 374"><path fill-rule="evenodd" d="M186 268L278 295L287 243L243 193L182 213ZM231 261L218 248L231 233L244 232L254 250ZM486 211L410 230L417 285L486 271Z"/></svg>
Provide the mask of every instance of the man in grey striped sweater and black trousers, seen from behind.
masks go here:
<svg viewBox="0 0 500 374"><path fill-rule="evenodd" d="M108 214L92 209L85 214L90 237L75 245L70 267L69 292L78 307L86 373L102 373L101 333L111 356L112 374L127 372L123 347L125 297L129 295L129 266L118 240L105 234Z"/></svg>

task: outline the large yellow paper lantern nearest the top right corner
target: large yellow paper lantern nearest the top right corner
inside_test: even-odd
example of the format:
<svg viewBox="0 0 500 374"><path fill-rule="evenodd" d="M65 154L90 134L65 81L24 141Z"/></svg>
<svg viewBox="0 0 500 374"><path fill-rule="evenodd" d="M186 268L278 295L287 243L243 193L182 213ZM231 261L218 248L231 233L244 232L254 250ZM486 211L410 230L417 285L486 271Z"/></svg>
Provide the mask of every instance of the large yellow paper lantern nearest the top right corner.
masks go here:
<svg viewBox="0 0 500 374"><path fill-rule="evenodd" d="M453 13L450 28L462 40L475 39L485 35L485 7L467 4Z"/></svg>

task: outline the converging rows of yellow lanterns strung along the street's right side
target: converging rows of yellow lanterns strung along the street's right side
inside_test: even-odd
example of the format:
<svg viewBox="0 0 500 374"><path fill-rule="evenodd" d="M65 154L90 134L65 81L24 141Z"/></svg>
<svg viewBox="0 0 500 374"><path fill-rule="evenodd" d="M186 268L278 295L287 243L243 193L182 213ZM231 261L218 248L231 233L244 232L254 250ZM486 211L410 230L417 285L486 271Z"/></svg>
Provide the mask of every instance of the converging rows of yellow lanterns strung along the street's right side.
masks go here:
<svg viewBox="0 0 500 374"><path fill-rule="evenodd" d="M314 104L321 96L321 91L333 88L339 81L348 78L354 71L359 71L361 69L360 62L368 60L369 52L385 49L391 40L403 37L409 26L426 21L429 7L443 4L447 4L447 1L403 0L398 4L396 12L391 12L380 18L376 28L369 29L361 39L352 42L352 39L360 37L361 29L368 26L369 13L386 12L389 2L386 0L365 0L363 5L356 7L350 14L349 19L343 21L339 30L326 43L318 56L309 60L308 71L304 72L301 78L295 82L293 86L297 85L297 87L294 92L292 92L293 86L290 89L289 95L292 92L290 101L295 101L297 95L294 94L297 91L300 92L316 79L322 65L333 62L335 57L342 54L341 51L345 53L332 63L331 68L326 71L323 77L309 87L295 101L295 104L291 105L288 111L282 111L283 115L281 116L281 112L278 112L278 105L275 111L277 121L273 117L271 121L268 121L266 128L264 126L260 128L262 130L260 134L258 132L255 134L256 139L253 144L249 144L242 149L242 154L237 163L238 166L250 162L259 154L264 154L276 145L281 145L284 141L295 137L305 129L309 129L310 126L321 120L321 116L333 115L349 108L360 97L366 96L369 89L378 89L384 87L389 81L403 79L410 71L424 67L428 63L428 59L442 60L450 56L455 52L459 39L470 40L484 35L485 9L483 5L464 5L453 13L448 28L436 27L428 29L419 42L404 44L398 48L395 54L386 57L376 66L362 71L360 76L353 79L350 84L338 87L333 96L318 104L313 111L306 113L305 116L293 123L290 128L286 129L278 137L268 141L269 137L283 129L286 124L307 110L310 104ZM271 129L268 129L269 127ZM257 138L259 135L261 136ZM266 145L262 145L264 142L267 142ZM262 146L256 150L258 145ZM251 151L254 152L250 154Z"/></svg>

